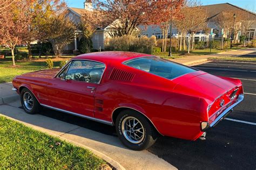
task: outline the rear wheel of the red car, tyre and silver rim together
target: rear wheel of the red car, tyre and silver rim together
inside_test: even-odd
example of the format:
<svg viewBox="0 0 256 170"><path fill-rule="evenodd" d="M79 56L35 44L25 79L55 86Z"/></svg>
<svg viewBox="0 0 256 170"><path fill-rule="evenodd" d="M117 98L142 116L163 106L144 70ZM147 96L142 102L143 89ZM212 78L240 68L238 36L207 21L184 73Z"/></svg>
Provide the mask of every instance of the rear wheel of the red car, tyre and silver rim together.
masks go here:
<svg viewBox="0 0 256 170"><path fill-rule="evenodd" d="M137 151L152 146L158 136L149 120L133 110L124 110L119 113L116 131L126 147Z"/></svg>

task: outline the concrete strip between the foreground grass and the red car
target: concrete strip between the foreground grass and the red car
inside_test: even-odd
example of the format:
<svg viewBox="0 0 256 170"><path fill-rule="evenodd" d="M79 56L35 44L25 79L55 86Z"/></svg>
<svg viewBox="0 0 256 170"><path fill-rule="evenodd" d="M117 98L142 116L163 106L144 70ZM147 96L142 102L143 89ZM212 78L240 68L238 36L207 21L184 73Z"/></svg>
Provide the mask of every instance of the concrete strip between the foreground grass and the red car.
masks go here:
<svg viewBox="0 0 256 170"><path fill-rule="evenodd" d="M9 87L8 89L10 90ZM77 146L85 147L117 169L177 169L149 151L132 151L126 148L117 137L112 135L99 133L41 114L27 114L21 108L19 100L0 105L0 115Z"/></svg>

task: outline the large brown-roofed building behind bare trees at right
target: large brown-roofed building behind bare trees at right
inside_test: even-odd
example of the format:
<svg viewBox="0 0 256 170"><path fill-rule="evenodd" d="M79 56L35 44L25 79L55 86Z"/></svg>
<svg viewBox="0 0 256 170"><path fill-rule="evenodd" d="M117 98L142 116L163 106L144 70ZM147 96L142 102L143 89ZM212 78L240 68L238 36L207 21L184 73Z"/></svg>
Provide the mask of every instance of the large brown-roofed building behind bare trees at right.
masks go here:
<svg viewBox="0 0 256 170"><path fill-rule="evenodd" d="M213 5L204 5L203 8L207 11L207 26L208 28L212 29L213 34L206 34L203 31L199 31L196 33L195 36L195 41L207 41L210 39L210 36L214 39L219 39L221 38L221 31L222 28L220 28L217 24L216 19L218 16L221 14L221 12L230 12L230 11L235 11L235 12L247 12L252 19L256 19L256 14L247 11L245 9L240 8L239 6L232 5L230 3L223 3L223 4L213 4ZM240 23L237 23L240 24ZM141 26L143 29L144 26ZM178 36L178 31L176 28L172 29L172 36L176 37ZM147 26L147 29L142 32L142 35L144 36L156 36L157 38L163 38L163 35L161 33L161 29L157 25L150 25ZM168 35L170 36L170 30ZM241 32L238 32L238 36L236 40L239 40L239 36L241 35ZM227 35L224 35L224 37L227 37ZM256 24L252 26L252 28L247 30L246 34L246 40L250 41L252 39L256 39Z"/></svg>

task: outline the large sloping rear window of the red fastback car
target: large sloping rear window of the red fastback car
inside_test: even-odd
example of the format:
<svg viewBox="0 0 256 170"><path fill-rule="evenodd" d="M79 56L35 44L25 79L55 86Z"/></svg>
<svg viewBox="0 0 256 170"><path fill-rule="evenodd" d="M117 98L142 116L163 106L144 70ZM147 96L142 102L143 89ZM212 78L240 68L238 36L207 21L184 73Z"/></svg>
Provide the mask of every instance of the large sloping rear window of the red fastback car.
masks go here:
<svg viewBox="0 0 256 170"><path fill-rule="evenodd" d="M176 64L158 57L137 58L124 62L124 64L167 79L174 79L184 74L197 71L190 67Z"/></svg>

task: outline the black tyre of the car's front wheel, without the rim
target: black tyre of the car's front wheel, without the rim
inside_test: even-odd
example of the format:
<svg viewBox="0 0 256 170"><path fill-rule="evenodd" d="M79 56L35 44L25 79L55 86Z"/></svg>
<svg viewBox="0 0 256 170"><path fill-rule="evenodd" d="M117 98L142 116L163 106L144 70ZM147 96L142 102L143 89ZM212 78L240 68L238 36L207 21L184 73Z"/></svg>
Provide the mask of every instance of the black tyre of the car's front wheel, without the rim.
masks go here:
<svg viewBox="0 0 256 170"><path fill-rule="evenodd" d="M25 94L30 94L32 97L33 105L30 109L24 103L24 95ZM38 103L36 97L33 95L33 93L29 89L26 89L26 88L22 89L22 91L21 91L21 104L22 104L24 111L29 114L37 114L37 113L39 113L40 108L41 108L41 105Z"/></svg>

